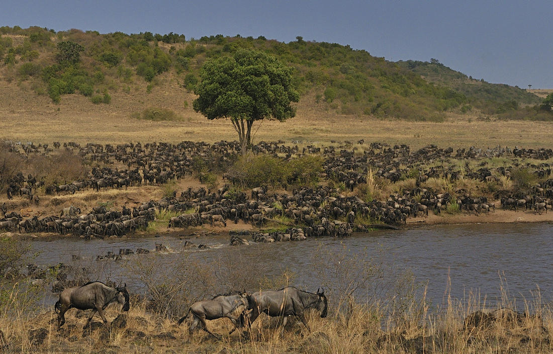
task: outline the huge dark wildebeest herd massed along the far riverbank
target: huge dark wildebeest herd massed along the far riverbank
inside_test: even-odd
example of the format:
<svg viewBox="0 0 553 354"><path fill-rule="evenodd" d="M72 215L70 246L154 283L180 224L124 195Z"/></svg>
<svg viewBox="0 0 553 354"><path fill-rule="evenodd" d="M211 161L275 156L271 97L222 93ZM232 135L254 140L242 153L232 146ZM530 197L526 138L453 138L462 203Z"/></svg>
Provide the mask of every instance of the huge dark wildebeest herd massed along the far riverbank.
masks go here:
<svg viewBox="0 0 553 354"><path fill-rule="evenodd" d="M501 205L505 209L533 210L539 214L551 209L553 179L549 178L551 165L546 162L553 158L551 149L496 147L483 150L471 147L454 152L452 148L439 149L436 145L427 145L411 152L409 146L403 144L390 146L385 143L371 143L363 151L358 146L346 142L341 147L307 146L300 149L297 145L289 147L280 141L260 142L252 150L256 154L270 154L284 159L303 154L321 155L324 160L321 177L332 180L335 184L343 183L349 191L367 183L369 170L374 171L374 176L388 180L389 183L396 183L404 176L414 176L416 186L389 195L386 200L362 200L358 196L347 196L336 188L322 185L315 188L296 187L281 193L269 192L268 186L258 186L248 195L235 191L231 193L229 188L236 182L231 179L218 190L189 188L158 201L123 206L121 210L106 210L106 207L98 206L86 214L81 214L79 208L70 206L62 210L59 216L42 218L23 218L17 212L9 212L4 203L0 230L72 233L86 238L120 237L136 228L146 227L148 222L154 220L156 211L166 209L181 213L170 219L168 227L205 223L225 227L228 222L239 221L263 227L277 215L291 220L290 227L284 232L252 233L253 240L258 242L304 240L311 236L343 237L353 231L367 230L371 227L366 224L367 220L401 225L409 217L427 216L429 211L440 213L452 202L456 202L468 214L494 211L497 205L484 196L471 195L466 190L457 190L454 194L435 191L424 188L424 183L430 178L455 181L461 176L493 183L498 176L509 176L512 171L521 167L528 169L541 181L529 190L498 195ZM60 149L61 144L56 143L54 147ZM63 147L86 161L101 164L91 168L87 178L62 181L61 184L45 185L39 176L28 174L25 177L23 173L17 173L8 183L8 199L18 194L39 203L39 188L45 194L75 194L85 189L100 191L123 186L128 188L142 184L164 184L192 174L197 160L210 166L229 166L236 160L241 149L237 142L128 143L116 146L89 143L82 147L76 143L64 143ZM22 154L24 158L32 154L55 153L55 149L48 148L48 145L30 144L25 146L24 151L13 145L9 149ZM468 164L471 159L502 157L512 159L512 165L492 169L482 163L476 169ZM524 163L521 159L543 162ZM457 163L445 167L446 162L452 160ZM461 167L463 161L466 162L464 168Z"/></svg>

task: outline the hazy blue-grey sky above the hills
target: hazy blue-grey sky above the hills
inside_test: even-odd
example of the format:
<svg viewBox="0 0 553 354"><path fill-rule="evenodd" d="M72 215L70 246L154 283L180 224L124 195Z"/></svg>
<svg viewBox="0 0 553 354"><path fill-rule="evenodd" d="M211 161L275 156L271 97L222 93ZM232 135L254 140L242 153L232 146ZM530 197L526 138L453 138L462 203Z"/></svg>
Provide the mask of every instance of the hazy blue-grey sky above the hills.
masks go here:
<svg viewBox="0 0 553 354"><path fill-rule="evenodd" d="M264 35L436 58L476 79L553 88L553 0L2 0L0 25L100 33Z"/></svg>

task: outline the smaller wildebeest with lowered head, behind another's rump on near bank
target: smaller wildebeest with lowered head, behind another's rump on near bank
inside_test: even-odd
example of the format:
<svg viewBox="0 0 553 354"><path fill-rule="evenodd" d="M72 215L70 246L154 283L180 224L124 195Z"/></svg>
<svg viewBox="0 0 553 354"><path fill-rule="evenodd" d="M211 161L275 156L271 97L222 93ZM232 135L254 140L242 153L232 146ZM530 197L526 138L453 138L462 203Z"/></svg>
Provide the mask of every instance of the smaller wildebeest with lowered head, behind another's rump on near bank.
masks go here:
<svg viewBox="0 0 553 354"><path fill-rule="evenodd" d="M197 301L190 306L190 309L177 323L180 325L190 313L194 316L194 321L189 327L189 334L192 336L192 332L196 329L197 325L201 322L202 329L213 337L220 338L220 336L213 334L207 329L206 320L216 320L221 317L227 317L234 324L234 329L229 333L231 334L242 327L243 322L239 321L243 318L244 311L248 308L248 294L238 293L236 295L216 295L211 300Z"/></svg>

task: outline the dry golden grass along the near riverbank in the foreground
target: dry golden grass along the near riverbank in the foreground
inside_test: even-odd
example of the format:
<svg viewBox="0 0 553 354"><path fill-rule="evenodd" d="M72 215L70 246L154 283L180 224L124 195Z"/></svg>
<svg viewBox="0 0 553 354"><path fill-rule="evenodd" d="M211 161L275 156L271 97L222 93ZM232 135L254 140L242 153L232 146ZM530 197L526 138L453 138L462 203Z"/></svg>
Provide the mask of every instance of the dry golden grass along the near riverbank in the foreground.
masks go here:
<svg viewBox="0 0 553 354"><path fill-rule="evenodd" d="M424 294L423 294L424 295ZM335 301L337 301L336 299ZM333 311L326 319L308 314L311 330L302 328L291 317L289 324L278 327L275 319L262 315L254 323L253 340L238 332L226 335L232 325L227 319L207 321L210 330L222 334L217 341L204 332L189 337L187 324L148 313L145 303L131 306L122 318L126 325L111 328L99 322L83 331L86 314L76 318L76 310L66 314L67 322L55 329L53 311L38 316L0 317L7 352L20 353L550 353L553 334L551 308L541 303L539 295L523 304L536 316L514 320L508 315L480 325L465 323L468 314L486 309L513 308L507 298L499 304L485 305L485 299L470 294L466 301L446 296L444 304L429 306L424 297L405 303L402 308L381 304L359 304L345 300L346 310ZM114 308L106 311L108 321L118 316ZM479 317L474 317L478 319ZM96 317L95 317L96 319ZM33 345L29 331L44 329L45 339Z"/></svg>

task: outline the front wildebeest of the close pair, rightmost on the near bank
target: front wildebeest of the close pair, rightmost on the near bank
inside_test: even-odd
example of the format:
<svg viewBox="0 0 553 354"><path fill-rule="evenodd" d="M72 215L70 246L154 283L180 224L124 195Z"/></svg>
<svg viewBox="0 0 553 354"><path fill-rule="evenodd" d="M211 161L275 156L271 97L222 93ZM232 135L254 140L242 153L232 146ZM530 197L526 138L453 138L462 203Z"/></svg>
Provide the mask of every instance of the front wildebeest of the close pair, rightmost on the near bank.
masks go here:
<svg viewBox="0 0 553 354"><path fill-rule="evenodd" d="M317 290L316 294L295 287L258 291L248 297L248 303L249 308L252 309L247 319L249 326L263 312L272 317L283 316L283 327L286 325L289 316L295 316L309 329L304 311L306 309L316 309L321 312L321 317L324 318L328 310L328 300L323 289Z"/></svg>

